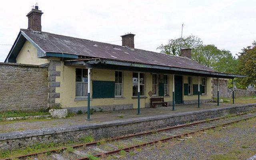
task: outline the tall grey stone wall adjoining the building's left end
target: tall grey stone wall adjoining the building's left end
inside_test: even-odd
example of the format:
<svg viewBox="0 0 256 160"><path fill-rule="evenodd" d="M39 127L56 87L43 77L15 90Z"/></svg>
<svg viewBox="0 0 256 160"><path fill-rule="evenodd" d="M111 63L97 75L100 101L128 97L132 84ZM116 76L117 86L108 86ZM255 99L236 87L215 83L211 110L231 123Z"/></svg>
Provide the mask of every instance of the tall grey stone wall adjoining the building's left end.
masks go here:
<svg viewBox="0 0 256 160"><path fill-rule="evenodd" d="M0 111L47 108L48 69L0 63Z"/></svg>

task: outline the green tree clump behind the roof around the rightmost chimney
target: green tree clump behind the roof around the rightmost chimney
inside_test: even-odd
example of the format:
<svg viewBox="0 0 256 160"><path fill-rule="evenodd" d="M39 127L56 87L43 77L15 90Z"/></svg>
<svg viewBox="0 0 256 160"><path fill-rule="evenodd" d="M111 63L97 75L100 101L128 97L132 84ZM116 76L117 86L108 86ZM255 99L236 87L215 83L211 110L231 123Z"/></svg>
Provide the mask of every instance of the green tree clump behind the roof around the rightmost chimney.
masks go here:
<svg viewBox="0 0 256 160"><path fill-rule="evenodd" d="M161 44L157 49L161 53L180 56L180 48L192 48L191 58L196 62L219 72L234 73L237 60L228 50L220 50L214 44L204 45L197 36L190 35L185 38L175 38L168 44Z"/></svg>

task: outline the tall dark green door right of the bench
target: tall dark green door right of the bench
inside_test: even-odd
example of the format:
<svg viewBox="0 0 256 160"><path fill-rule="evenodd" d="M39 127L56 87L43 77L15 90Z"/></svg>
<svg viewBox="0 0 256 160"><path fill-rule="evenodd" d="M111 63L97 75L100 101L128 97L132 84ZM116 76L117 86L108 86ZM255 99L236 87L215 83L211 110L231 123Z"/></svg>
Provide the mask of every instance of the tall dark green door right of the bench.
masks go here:
<svg viewBox="0 0 256 160"><path fill-rule="evenodd" d="M174 76L175 103L182 103L182 76Z"/></svg>

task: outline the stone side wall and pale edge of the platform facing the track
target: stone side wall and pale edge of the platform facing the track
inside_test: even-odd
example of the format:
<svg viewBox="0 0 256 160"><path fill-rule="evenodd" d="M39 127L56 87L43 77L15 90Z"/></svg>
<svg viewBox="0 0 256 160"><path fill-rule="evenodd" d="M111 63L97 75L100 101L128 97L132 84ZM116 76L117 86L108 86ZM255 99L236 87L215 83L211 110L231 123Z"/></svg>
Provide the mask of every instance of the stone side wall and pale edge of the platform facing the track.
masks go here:
<svg viewBox="0 0 256 160"><path fill-rule="evenodd" d="M136 115L136 110L130 110L128 112L133 113L130 115L130 117L135 116L135 118L121 120L119 118L112 121L97 123L95 123L95 120L92 120L89 122L81 122L83 124L73 124L72 126L58 126L54 128L40 128L36 130L1 133L0 150L21 148L24 146L33 145L35 143L67 142L68 140L79 142L81 138L88 135L93 136L97 140L100 138L109 138L113 136L132 134L156 128L163 128L166 126L184 124L186 122L193 122L197 120L203 120L206 118L216 118L227 114L235 114L237 112L248 112L256 110L256 104L243 104L236 106L222 105L220 107L216 107L215 105L207 103L202 105L202 108L196 108L195 106L191 106L191 111L179 112L180 110L182 110L182 108L189 109L187 108L188 106L189 105L177 106L177 110L174 112L170 111L171 107L144 109L144 114L146 113L146 110L148 110L148 114L160 114L156 111L162 110L162 114L154 116L138 116ZM143 113L143 110L141 111ZM106 116L112 115L113 119L114 116L119 115L117 113L119 112L114 112L114 114L111 112L108 113ZM96 119L97 116L101 114L95 114L94 116L92 116L92 118ZM83 115L82 117L84 117L85 120L85 116ZM111 117L108 118L111 119ZM66 120L69 119L60 120L66 122ZM30 125L30 123L27 122L27 125Z"/></svg>

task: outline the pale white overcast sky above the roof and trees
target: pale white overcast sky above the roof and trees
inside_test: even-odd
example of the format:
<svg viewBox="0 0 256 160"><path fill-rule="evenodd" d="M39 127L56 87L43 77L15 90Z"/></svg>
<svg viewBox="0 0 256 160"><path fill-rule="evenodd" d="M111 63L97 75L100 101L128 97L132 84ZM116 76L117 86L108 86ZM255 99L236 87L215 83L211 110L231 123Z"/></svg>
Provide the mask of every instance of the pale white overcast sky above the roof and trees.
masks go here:
<svg viewBox="0 0 256 160"><path fill-rule="evenodd" d="M180 37L183 22L183 36L233 55L256 40L256 0L8 0L0 5L0 62L28 27L26 14L36 2L44 12L42 31L118 45L132 32L135 48L144 50L160 52L160 44Z"/></svg>

